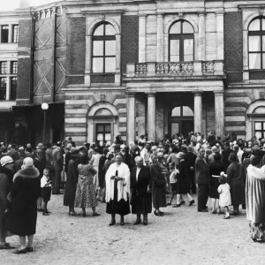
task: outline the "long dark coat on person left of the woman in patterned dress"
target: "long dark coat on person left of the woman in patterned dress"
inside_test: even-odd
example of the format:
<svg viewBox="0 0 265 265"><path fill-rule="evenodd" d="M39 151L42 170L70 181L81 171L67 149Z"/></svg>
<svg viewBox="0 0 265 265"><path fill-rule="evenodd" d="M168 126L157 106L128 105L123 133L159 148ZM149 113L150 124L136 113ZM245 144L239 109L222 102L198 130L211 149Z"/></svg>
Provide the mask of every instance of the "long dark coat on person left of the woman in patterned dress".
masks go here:
<svg viewBox="0 0 265 265"><path fill-rule="evenodd" d="M76 186L79 179L78 163L71 159L67 167L67 179L64 190L64 206L74 207Z"/></svg>

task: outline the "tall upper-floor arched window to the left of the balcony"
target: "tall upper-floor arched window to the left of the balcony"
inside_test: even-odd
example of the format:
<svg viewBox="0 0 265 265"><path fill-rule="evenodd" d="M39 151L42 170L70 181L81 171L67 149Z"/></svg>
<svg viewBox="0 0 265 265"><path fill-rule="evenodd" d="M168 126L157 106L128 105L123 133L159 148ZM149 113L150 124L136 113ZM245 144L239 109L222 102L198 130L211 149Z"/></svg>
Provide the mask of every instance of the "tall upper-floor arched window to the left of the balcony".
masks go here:
<svg viewBox="0 0 265 265"><path fill-rule="evenodd" d="M115 28L107 22L100 24L93 33L93 72L115 72L116 37Z"/></svg>

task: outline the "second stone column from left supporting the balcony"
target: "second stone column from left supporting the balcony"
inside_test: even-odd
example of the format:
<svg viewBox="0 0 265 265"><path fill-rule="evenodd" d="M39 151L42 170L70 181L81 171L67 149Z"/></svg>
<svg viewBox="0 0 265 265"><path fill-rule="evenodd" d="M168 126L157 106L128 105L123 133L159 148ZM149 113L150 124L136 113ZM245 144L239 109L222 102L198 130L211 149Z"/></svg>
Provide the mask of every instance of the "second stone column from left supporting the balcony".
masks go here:
<svg viewBox="0 0 265 265"><path fill-rule="evenodd" d="M155 93L148 93L148 140L155 141Z"/></svg>

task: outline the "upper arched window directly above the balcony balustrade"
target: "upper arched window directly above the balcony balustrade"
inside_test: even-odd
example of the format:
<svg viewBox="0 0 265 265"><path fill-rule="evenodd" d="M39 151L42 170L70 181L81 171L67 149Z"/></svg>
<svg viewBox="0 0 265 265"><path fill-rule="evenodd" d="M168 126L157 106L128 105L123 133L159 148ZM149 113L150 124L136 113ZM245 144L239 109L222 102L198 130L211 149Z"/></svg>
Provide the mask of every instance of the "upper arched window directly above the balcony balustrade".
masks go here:
<svg viewBox="0 0 265 265"><path fill-rule="evenodd" d="M193 61L193 26L186 20L178 20L170 27L170 62Z"/></svg>

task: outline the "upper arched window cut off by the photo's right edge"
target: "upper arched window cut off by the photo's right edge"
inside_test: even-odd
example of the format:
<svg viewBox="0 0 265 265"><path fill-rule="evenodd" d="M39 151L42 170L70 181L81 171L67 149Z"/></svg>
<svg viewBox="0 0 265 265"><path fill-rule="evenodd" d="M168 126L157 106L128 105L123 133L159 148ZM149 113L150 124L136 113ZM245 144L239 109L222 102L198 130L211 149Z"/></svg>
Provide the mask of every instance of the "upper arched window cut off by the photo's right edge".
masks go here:
<svg viewBox="0 0 265 265"><path fill-rule="evenodd" d="M265 19L257 18L248 26L249 70L265 69Z"/></svg>

